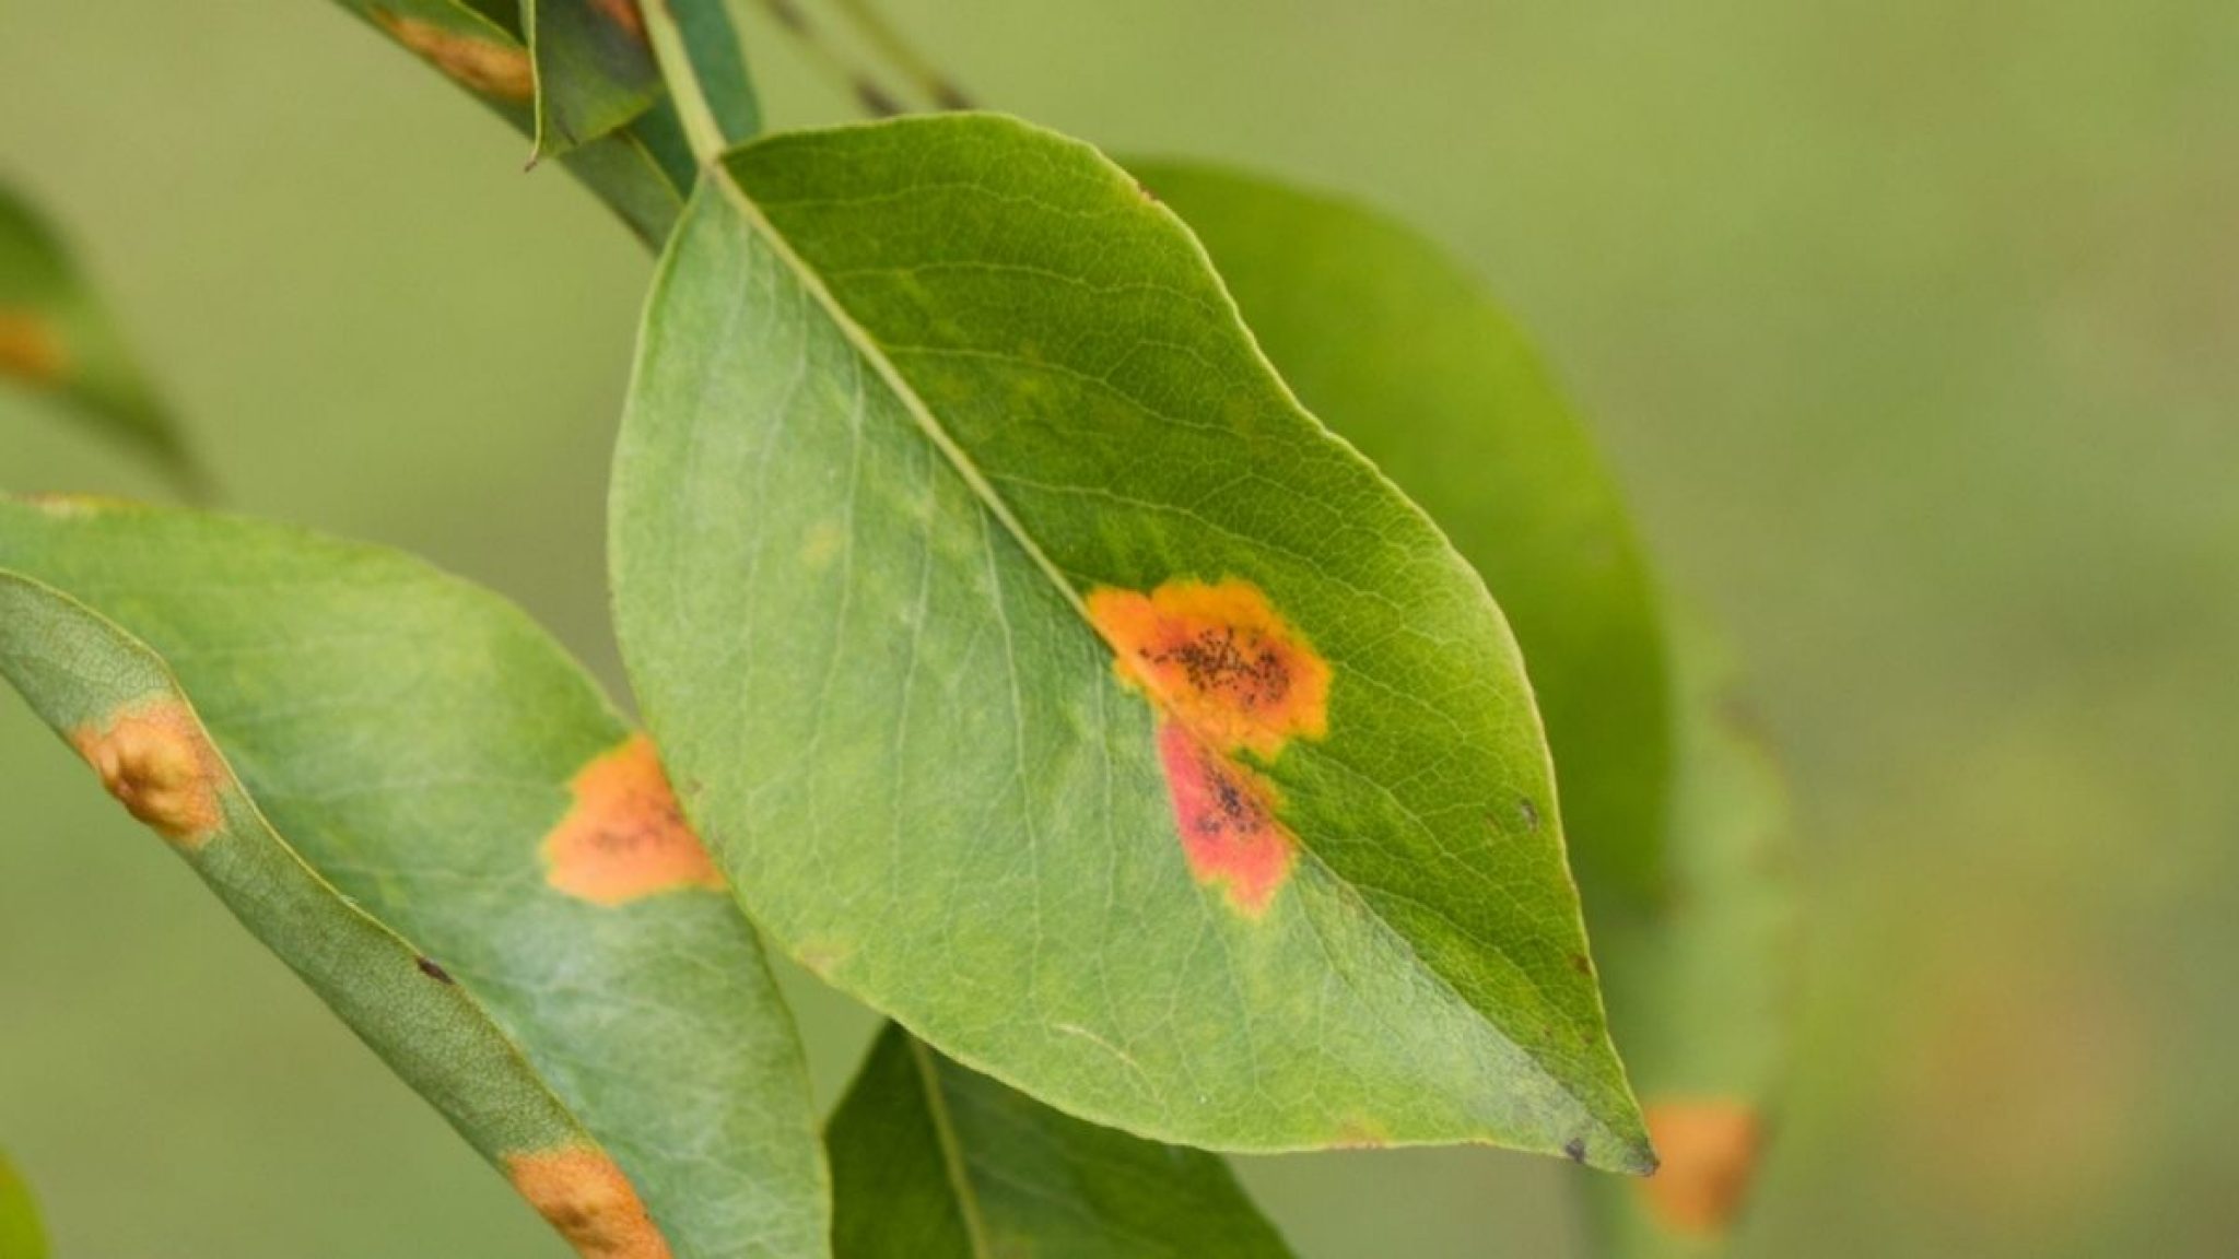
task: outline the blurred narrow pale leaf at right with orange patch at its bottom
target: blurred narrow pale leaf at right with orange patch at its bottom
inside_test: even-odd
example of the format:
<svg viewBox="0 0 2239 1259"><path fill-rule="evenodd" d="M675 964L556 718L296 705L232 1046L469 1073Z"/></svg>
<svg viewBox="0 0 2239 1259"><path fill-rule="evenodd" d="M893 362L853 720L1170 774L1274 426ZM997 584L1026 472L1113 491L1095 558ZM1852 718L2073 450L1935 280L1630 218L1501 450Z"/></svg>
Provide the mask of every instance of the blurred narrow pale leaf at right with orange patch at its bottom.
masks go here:
<svg viewBox="0 0 2239 1259"><path fill-rule="evenodd" d="M1679 652L1668 905L1596 914L1610 1015L1664 1156L1655 1181L1590 1185L1603 1252L1722 1255L1787 1073L1798 903L1780 768L1708 647Z"/></svg>

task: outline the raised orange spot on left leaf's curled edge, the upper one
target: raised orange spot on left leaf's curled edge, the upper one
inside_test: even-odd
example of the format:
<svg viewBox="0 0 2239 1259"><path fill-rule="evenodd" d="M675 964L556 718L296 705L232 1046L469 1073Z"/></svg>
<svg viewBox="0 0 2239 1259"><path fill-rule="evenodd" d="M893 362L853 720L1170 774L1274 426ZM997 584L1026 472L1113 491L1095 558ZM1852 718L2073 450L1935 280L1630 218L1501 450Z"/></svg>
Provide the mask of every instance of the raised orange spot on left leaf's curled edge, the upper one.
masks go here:
<svg viewBox="0 0 2239 1259"><path fill-rule="evenodd" d="M224 762L186 703L157 699L125 708L101 726L69 733L85 764L125 811L179 845L199 849L224 824L217 800Z"/></svg>

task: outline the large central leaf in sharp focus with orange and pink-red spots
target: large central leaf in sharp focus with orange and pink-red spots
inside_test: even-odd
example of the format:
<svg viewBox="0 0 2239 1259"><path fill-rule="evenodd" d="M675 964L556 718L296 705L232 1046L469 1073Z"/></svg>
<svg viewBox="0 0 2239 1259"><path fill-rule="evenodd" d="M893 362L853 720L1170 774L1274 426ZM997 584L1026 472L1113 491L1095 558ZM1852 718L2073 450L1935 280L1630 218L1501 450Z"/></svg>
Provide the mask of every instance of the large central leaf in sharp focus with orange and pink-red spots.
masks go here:
<svg viewBox="0 0 2239 1259"><path fill-rule="evenodd" d="M999 116L723 175L649 302L611 551L761 927L1140 1136L1646 1169L1516 645L1182 224Z"/></svg>

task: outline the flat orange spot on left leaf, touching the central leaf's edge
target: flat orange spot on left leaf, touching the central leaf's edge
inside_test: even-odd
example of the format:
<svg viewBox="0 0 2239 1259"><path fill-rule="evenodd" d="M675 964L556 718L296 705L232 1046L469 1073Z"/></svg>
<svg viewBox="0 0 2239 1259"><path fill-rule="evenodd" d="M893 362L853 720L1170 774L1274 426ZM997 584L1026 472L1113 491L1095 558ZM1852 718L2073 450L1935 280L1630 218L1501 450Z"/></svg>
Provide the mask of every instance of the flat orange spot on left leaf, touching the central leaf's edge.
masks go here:
<svg viewBox="0 0 2239 1259"><path fill-rule="evenodd" d="M723 887L645 735L582 766L569 786L575 806L544 838L546 883L560 892L625 905L678 887Z"/></svg>

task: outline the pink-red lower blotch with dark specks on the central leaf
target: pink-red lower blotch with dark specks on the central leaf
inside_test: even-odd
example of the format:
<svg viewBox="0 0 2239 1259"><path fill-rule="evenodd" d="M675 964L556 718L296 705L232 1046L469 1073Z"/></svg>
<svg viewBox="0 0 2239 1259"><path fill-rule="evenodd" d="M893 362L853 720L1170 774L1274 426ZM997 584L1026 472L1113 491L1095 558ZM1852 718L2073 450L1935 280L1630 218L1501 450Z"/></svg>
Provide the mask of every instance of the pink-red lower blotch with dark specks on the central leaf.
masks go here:
<svg viewBox="0 0 2239 1259"><path fill-rule="evenodd" d="M1180 721L1158 724L1158 759L1189 871L1200 883L1227 885L1245 914L1265 912L1299 851L1296 836L1276 822L1274 786L1200 744Z"/></svg>

